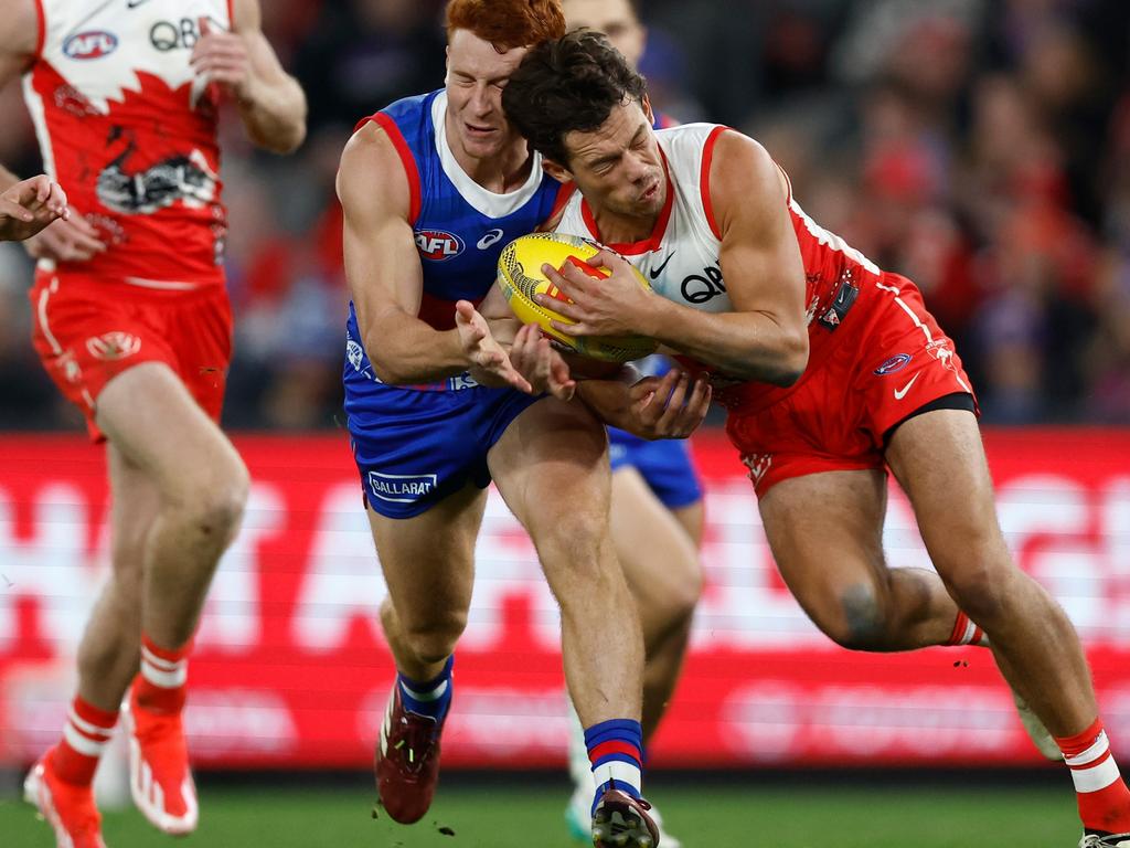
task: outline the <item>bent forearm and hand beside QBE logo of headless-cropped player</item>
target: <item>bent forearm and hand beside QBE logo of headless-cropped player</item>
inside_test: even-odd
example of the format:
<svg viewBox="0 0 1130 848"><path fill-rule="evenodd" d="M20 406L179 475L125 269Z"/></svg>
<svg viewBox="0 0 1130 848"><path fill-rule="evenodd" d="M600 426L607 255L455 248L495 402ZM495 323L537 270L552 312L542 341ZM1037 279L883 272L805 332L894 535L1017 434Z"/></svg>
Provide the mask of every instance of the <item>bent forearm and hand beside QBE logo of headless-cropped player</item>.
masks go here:
<svg viewBox="0 0 1130 848"><path fill-rule="evenodd" d="M201 19L190 64L205 85L235 99L247 137L272 153L290 153L306 137L306 95L289 76L262 32L259 0L235 0L233 32Z"/></svg>

